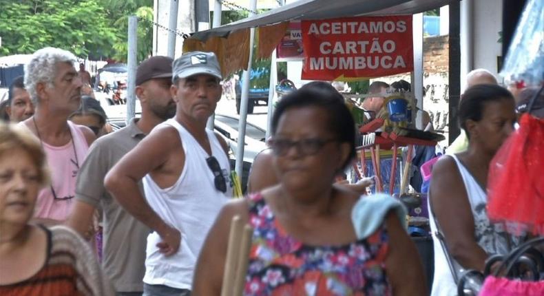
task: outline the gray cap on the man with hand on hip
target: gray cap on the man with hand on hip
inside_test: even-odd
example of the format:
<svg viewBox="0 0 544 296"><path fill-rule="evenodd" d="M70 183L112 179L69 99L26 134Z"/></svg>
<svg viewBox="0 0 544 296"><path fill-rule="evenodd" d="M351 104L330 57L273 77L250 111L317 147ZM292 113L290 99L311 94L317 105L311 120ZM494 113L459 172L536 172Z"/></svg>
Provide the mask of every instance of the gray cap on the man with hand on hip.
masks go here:
<svg viewBox="0 0 544 296"><path fill-rule="evenodd" d="M187 52L174 61L172 79L209 74L222 79L219 62L213 52Z"/></svg>

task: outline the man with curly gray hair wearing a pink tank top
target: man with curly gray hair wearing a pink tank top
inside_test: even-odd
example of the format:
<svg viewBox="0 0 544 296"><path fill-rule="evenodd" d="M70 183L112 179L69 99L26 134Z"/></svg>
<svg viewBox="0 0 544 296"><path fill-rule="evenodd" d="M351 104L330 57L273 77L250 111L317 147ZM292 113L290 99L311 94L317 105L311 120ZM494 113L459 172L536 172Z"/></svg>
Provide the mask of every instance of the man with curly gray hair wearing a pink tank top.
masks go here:
<svg viewBox="0 0 544 296"><path fill-rule="evenodd" d="M25 65L26 89L36 109L19 125L39 139L48 158L51 184L40 191L34 213L34 222L47 226L64 222L70 214L79 166L96 138L90 128L68 121L81 104L75 62L71 52L45 47Z"/></svg>

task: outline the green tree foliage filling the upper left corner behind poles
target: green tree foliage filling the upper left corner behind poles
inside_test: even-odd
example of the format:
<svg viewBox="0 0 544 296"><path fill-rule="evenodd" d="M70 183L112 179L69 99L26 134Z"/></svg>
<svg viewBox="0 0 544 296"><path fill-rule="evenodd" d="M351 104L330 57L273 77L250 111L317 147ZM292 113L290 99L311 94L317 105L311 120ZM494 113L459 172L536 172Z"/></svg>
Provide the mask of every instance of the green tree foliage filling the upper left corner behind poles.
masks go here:
<svg viewBox="0 0 544 296"><path fill-rule="evenodd" d="M127 58L127 19L153 19L153 0L0 0L0 56L52 46L94 59ZM151 53L152 28L138 24L138 61Z"/></svg>

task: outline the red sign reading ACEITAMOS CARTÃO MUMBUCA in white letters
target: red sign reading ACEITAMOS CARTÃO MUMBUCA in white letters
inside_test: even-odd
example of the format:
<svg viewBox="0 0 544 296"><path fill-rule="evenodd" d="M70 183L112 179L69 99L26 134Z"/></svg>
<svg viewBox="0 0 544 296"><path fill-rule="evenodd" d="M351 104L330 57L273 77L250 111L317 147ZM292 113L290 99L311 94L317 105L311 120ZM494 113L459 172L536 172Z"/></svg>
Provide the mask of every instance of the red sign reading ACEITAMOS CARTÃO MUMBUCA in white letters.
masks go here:
<svg viewBox="0 0 544 296"><path fill-rule="evenodd" d="M412 16L302 21L302 79L373 78L414 68Z"/></svg>

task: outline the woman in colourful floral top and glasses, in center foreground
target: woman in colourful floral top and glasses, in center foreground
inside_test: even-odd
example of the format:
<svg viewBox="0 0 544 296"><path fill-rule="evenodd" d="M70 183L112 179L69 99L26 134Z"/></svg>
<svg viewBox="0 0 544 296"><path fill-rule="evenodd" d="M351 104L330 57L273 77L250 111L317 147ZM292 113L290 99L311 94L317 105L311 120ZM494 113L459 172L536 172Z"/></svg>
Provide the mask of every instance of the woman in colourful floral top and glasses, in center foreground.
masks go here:
<svg viewBox="0 0 544 296"><path fill-rule="evenodd" d="M426 295L397 215L385 213L359 237L352 220L359 195L333 184L355 156L355 123L342 95L313 82L284 96L272 134L279 184L222 209L198 258L193 294L220 295L229 224L240 215L254 229L244 295Z"/></svg>

